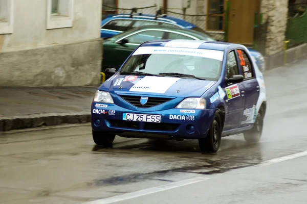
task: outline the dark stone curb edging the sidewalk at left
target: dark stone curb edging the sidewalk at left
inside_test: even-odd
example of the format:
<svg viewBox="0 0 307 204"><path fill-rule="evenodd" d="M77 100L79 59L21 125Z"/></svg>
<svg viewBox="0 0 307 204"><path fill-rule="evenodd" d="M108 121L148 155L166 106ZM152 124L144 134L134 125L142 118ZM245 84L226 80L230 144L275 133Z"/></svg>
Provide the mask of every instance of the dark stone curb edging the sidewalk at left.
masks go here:
<svg viewBox="0 0 307 204"><path fill-rule="evenodd" d="M91 114L89 112L23 115L11 118L1 118L0 132L41 126L55 126L60 124L78 124L87 122L91 122Z"/></svg>

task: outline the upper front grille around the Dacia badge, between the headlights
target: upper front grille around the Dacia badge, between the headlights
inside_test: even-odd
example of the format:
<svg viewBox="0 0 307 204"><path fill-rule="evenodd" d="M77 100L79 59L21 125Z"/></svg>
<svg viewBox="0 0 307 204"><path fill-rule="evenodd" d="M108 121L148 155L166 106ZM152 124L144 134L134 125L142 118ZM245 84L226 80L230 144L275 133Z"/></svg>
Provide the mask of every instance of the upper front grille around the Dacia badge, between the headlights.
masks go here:
<svg viewBox="0 0 307 204"><path fill-rule="evenodd" d="M131 95L119 95L122 99L127 101L129 104L138 108L150 108L153 106L158 106L163 104L173 98L162 98L162 97L148 97L147 103L142 105L140 100L141 96L131 96Z"/></svg>

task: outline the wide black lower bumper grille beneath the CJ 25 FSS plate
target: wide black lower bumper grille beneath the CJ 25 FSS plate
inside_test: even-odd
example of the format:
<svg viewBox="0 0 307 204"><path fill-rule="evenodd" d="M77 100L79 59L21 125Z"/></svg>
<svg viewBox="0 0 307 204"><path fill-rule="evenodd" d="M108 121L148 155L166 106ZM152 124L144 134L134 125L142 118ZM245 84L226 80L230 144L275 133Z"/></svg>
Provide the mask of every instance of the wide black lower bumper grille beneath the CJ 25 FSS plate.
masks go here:
<svg viewBox="0 0 307 204"><path fill-rule="evenodd" d="M141 122L127 121L127 120L108 120L111 127L125 128L140 130ZM142 130L145 131L166 131L173 132L178 129L180 124L178 123L157 123L157 122L143 122Z"/></svg>

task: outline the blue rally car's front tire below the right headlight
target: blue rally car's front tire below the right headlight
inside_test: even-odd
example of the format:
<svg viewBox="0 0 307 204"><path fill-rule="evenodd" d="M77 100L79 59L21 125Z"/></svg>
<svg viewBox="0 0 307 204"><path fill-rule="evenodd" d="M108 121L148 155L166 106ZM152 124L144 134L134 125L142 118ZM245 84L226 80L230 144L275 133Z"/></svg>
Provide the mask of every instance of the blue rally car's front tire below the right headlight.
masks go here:
<svg viewBox="0 0 307 204"><path fill-rule="evenodd" d="M218 112L215 113L207 137L199 139L203 152L216 152L220 148L222 138L222 120Z"/></svg>

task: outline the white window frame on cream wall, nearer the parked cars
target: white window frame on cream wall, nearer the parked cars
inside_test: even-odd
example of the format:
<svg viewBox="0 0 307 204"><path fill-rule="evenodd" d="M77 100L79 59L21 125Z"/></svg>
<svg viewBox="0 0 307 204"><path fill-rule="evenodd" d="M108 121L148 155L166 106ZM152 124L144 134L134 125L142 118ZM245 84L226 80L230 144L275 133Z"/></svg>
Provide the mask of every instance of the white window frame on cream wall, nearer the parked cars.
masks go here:
<svg viewBox="0 0 307 204"><path fill-rule="evenodd" d="M58 15L51 10L52 0L47 0L47 30L73 27L74 0L59 0Z"/></svg>

